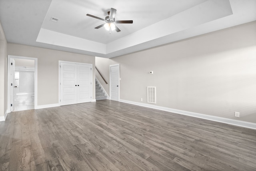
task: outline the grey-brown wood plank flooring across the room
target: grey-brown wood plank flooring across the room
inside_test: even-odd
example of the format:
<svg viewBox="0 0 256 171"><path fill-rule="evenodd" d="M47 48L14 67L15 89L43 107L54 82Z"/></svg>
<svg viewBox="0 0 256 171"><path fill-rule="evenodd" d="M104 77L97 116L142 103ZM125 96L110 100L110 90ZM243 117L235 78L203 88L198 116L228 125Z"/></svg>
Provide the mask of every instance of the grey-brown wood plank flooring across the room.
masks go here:
<svg viewBox="0 0 256 171"><path fill-rule="evenodd" d="M255 171L256 130L101 100L0 122L1 171Z"/></svg>

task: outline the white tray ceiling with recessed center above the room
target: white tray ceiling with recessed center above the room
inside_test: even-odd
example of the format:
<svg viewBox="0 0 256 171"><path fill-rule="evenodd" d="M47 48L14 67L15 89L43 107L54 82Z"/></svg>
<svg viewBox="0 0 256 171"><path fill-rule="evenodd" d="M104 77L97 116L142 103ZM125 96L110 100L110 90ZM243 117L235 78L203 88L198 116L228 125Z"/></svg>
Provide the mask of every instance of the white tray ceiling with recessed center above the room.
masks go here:
<svg viewBox="0 0 256 171"><path fill-rule="evenodd" d="M104 21L115 8L121 32ZM51 17L58 22L50 21ZM8 42L112 58L256 20L256 0L0 0Z"/></svg>

